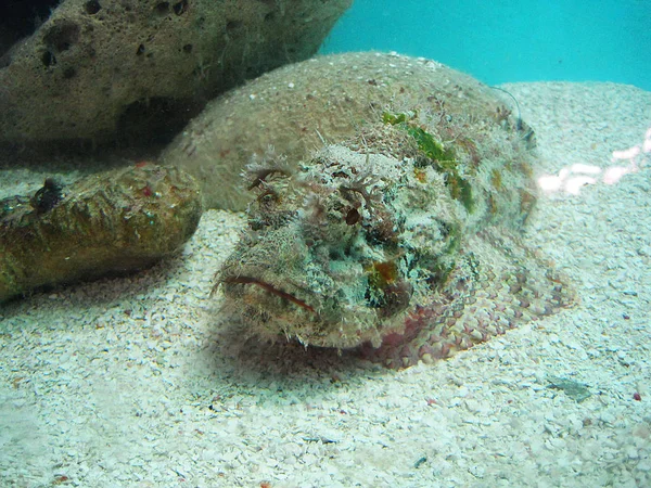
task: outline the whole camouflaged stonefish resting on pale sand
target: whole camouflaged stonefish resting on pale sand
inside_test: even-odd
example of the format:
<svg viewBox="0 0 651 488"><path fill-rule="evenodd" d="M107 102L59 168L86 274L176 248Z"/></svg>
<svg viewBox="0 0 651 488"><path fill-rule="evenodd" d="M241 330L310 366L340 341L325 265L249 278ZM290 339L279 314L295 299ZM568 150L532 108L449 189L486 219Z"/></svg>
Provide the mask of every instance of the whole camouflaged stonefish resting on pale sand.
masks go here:
<svg viewBox="0 0 651 488"><path fill-rule="evenodd" d="M248 230L216 275L225 310L264 339L404 368L571 304L518 240L533 132L497 112L384 112L297 168L252 163Z"/></svg>

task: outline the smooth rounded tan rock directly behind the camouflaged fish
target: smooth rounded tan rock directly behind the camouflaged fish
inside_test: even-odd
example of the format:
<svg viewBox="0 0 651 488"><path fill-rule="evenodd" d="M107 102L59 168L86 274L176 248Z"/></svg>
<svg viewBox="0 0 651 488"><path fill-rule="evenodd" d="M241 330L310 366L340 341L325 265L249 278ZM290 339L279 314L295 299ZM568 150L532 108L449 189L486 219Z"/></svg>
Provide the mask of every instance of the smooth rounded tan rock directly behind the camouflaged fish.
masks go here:
<svg viewBox="0 0 651 488"><path fill-rule="evenodd" d="M195 176L205 208L244 209L241 172L269 144L290 163L309 157L323 140L339 142L385 106L445 108L507 120L499 92L424 59L376 52L320 56L267 73L210 102L161 156ZM511 123L518 125L515 117ZM524 136L531 132L520 121ZM529 142L533 142L531 140Z"/></svg>

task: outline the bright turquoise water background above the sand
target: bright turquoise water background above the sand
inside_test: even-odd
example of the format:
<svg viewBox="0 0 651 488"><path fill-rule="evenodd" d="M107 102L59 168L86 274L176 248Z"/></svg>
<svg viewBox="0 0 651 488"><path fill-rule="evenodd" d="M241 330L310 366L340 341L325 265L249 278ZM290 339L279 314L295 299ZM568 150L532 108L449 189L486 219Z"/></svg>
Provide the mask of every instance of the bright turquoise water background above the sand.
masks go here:
<svg viewBox="0 0 651 488"><path fill-rule="evenodd" d="M398 51L505 81L651 91L651 0L355 0L321 49Z"/></svg>

